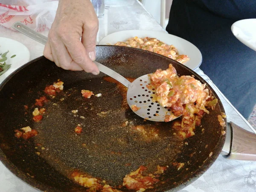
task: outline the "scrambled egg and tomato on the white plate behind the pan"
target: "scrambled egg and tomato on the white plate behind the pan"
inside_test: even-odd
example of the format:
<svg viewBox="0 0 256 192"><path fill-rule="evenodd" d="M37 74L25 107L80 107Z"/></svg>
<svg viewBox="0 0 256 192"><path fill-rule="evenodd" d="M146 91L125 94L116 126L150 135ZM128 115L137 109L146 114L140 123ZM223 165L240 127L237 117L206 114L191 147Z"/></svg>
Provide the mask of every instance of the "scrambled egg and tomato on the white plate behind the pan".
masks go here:
<svg viewBox="0 0 256 192"><path fill-rule="evenodd" d="M189 61L189 57L187 55L179 55L177 48L174 45L167 45L163 41L160 41L156 38L129 38L125 42L117 42L114 45L125 46L125 47L134 47L139 49L144 49L147 51L155 52L160 55L164 55L166 57L172 58L182 64L186 61Z"/></svg>

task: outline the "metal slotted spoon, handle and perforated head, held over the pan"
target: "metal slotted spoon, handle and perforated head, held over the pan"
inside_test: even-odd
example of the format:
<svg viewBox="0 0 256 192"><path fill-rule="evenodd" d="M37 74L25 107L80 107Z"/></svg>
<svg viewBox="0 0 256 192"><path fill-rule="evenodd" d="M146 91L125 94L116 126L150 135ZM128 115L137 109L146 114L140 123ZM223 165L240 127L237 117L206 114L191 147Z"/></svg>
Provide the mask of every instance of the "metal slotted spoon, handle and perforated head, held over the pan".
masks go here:
<svg viewBox="0 0 256 192"><path fill-rule="evenodd" d="M23 25L20 22L16 22L12 26L17 31L23 33L24 35L28 36L29 38L34 39L35 41L38 41L41 44L46 44L47 37L44 35L41 35L38 32L35 32L32 29L29 29L27 26ZM138 109L133 110L134 113L136 113L138 116L148 119L151 121L158 121L163 122L166 115L172 115L172 111L168 108L162 107L157 101L154 99L155 90L149 89L147 85L150 85L150 78L149 74L146 74L144 76L141 76L137 79L135 79L132 83L125 79L123 76L121 76L119 73L116 73L115 71L111 70L110 68L106 67L105 65L100 64L97 61L93 61L97 67L99 68L99 71L102 73L105 73L108 76L111 76L113 79L116 79L116 81L119 81L122 83L125 87L128 88L127 91L127 102L130 108L133 110L133 106L135 105ZM173 119L178 118L179 116L174 116Z"/></svg>

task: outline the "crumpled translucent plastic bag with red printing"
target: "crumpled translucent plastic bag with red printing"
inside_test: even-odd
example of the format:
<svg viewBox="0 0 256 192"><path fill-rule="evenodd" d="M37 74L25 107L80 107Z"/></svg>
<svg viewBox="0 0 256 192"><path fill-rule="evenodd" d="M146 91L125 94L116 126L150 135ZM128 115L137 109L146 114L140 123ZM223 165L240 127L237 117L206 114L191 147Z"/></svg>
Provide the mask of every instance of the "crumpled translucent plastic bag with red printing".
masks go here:
<svg viewBox="0 0 256 192"><path fill-rule="evenodd" d="M1 0L0 25L15 31L12 24L21 21L37 32L49 30L57 8L57 0Z"/></svg>

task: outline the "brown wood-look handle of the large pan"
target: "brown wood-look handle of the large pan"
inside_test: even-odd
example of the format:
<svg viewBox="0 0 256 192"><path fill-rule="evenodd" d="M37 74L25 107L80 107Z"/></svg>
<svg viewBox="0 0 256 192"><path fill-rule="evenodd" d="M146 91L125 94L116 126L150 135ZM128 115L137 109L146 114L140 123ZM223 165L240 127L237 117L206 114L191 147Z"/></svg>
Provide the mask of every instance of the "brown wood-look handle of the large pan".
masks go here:
<svg viewBox="0 0 256 192"><path fill-rule="evenodd" d="M233 122L227 123L227 131L231 131L229 154L223 154L227 159L232 160L256 160L256 134L247 131Z"/></svg>

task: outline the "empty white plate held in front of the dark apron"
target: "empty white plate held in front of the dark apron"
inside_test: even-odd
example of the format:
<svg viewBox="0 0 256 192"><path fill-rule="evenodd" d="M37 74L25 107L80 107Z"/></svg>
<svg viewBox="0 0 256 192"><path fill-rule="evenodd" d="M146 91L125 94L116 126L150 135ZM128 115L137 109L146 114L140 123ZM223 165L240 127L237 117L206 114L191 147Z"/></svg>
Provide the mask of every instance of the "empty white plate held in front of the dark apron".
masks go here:
<svg viewBox="0 0 256 192"><path fill-rule="evenodd" d="M231 31L239 41L256 51L256 19L236 21L231 26Z"/></svg>

